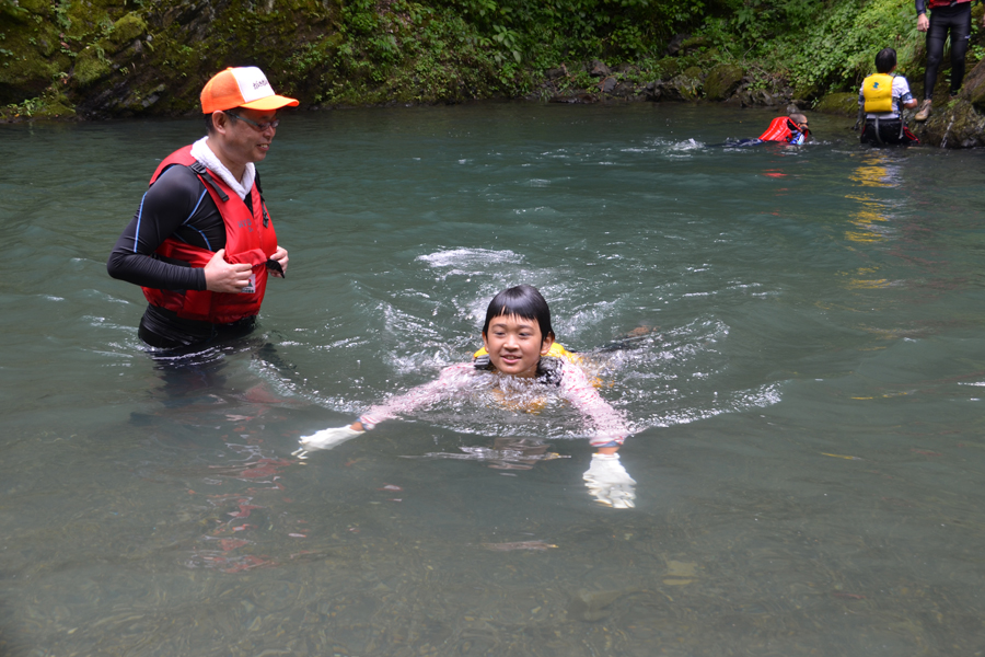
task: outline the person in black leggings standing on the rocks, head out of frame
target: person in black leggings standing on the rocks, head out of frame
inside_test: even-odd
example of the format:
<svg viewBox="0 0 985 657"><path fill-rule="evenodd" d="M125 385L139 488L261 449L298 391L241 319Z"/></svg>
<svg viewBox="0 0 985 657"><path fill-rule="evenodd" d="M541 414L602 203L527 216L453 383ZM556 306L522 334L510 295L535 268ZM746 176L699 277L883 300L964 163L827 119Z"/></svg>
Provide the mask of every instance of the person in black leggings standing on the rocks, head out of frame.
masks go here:
<svg viewBox="0 0 985 657"><path fill-rule="evenodd" d="M971 41L971 0L915 0L917 30L927 33L927 70L924 72L924 102L913 117L927 120L930 117L934 87L937 84L937 69L943 59L948 33L951 36L951 97L961 91L964 80L964 55ZM930 18L927 18L927 7ZM982 19L985 27L985 16Z"/></svg>

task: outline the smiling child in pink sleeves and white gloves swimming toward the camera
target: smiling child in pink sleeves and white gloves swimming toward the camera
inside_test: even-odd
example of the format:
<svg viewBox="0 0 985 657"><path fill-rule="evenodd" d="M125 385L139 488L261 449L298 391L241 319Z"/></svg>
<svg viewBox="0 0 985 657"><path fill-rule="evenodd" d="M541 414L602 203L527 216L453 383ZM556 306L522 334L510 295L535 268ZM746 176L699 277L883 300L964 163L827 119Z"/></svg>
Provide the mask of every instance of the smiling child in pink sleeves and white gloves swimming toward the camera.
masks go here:
<svg viewBox="0 0 985 657"><path fill-rule="evenodd" d="M474 389L479 381L491 382L510 393L532 385L553 388L594 428L590 442L596 451L584 473L589 492L606 506L633 507L636 482L623 468L617 453L629 428L578 367L578 356L555 342L551 309L541 292L532 286L519 285L496 295L486 310L483 345L472 362L445 368L437 380L372 406L352 424L302 437L301 450L296 453L332 449L381 422Z"/></svg>

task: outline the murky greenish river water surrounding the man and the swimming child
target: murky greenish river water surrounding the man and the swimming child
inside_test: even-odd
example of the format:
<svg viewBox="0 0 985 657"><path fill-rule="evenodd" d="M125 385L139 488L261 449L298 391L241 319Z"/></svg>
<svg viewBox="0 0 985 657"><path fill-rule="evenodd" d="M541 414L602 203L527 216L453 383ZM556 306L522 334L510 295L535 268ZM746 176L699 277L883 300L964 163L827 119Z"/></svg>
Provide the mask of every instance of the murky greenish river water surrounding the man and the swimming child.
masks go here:
<svg viewBox="0 0 985 657"><path fill-rule="evenodd" d="M723 148L763 111L297 113L248 339L151 358L105 261L200 119L0 126L0 655L970 655L985 645L983 153ZM566 408L299 436L537 286L607 354L636 507ZM512 450L512 451L510 451Z"/></svg>

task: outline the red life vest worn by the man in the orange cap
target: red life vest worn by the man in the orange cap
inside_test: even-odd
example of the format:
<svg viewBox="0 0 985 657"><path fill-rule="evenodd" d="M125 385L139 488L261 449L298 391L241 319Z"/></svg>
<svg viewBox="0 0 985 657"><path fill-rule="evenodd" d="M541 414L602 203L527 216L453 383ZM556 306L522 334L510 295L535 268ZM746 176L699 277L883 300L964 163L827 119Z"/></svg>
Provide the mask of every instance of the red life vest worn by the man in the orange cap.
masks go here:
<svg viewBox="0 0 985 657"><path fill-rule="evenodd" d="M253 207L251 212L243 199L222 182L222 178L212 175L200 164L193 166L197 162L192 157L190 146L181 148L161 162L158 170L154 171L154 175L151 176L150 184L153 185L166 169L175 164L193 168L216 203L216 207L222 216L222 222L225 224L225 261L233 265L246 263L253 266L253 278L251 279L253 291L230 295L208 290L175 291L147 287L141 289L151 306L174 311L179 318L213 324L229 324L259 312L264 292L267 289L266 263L267 258L277 250L277 234L274 232L274 226L255 182L250 189L251 207ZM199 268L204 268L216 255L213 251L192 246L174 238L164 240L154 253L164 258L183 261Z"/></svg>

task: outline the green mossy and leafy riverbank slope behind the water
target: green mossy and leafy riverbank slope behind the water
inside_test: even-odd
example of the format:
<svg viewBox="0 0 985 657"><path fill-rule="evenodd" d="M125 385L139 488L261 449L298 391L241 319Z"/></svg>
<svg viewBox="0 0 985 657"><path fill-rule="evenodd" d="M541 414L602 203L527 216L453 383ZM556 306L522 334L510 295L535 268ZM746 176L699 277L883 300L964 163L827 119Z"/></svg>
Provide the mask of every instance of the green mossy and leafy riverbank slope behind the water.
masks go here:
<svg viewBox="0 0 985 657"><path fill-rule="evenodd" d="M923 57L911 0L0 0L0 119L194 112L224 66L305 105L598 94L602 78L626 97L675 79L674 97L721 100L742 80L814 101L883 46L904 72ZM974 34L970 64L983 54Z"/></svg>

